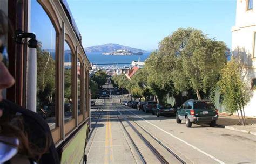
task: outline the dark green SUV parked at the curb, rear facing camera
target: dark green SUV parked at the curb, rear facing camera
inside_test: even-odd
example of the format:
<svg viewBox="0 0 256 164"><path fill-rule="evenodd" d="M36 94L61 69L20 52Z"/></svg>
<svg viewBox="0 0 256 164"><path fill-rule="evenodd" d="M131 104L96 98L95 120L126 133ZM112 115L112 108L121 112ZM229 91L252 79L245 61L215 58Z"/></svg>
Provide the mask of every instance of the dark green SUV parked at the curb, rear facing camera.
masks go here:
<svg viewBox="0 0 256 164"><path fill-rule="evenodd" d="M185 120L186 126L191 127L192 123L208 123L211 127L216 125L218 109L213 103L205 100L188 100L178 108L176 122L179 124Z"/></svg>

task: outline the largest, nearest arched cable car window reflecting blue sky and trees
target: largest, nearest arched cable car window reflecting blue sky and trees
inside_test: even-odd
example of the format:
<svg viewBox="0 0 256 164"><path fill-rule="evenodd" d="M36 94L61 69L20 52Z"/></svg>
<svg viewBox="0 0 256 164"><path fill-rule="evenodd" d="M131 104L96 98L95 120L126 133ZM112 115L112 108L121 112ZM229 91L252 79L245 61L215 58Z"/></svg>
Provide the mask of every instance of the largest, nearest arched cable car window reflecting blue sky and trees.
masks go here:
<svg viewBox="0 0 256 164"><path fill-rule="evenodd" d="M31 1L31 32L39 42L37 48L37 113L50 129L56 127L56 31L42 6Z"/></svg>

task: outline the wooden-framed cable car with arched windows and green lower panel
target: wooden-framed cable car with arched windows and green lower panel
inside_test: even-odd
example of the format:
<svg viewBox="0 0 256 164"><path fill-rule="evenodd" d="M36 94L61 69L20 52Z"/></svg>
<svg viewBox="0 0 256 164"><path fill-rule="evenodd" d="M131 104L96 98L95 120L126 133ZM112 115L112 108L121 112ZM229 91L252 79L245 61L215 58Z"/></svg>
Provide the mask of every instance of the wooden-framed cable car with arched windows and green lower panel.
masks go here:
<svg viewBox="0 0 256 164"><path fill-rule="evenodd" d="M9 72L16 80L4 98L42 116L61 163L84 163L91 65L68 3L1 0L0 9L12 26L7 50Z"/></svg>

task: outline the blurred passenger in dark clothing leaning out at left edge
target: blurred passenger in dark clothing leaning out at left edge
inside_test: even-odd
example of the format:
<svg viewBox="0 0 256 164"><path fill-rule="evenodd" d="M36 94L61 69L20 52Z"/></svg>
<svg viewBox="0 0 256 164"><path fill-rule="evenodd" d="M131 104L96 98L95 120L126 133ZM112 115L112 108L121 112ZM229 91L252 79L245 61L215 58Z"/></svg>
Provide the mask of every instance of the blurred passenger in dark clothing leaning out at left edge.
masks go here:
<svg viewBox="0 0 256 164"><path fill-rule="evenodd" d="M0 10L0 163L59 163L44 119L2 97L2 91L15 83L8 71L5 47L10 29L8 18Z"/></svg>

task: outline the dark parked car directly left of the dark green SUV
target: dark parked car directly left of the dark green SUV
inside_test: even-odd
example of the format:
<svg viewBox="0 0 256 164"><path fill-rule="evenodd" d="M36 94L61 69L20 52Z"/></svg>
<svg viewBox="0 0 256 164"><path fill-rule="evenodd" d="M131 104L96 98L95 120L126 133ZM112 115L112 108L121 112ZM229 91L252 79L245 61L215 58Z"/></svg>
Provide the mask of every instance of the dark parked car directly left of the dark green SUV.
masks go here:
<svg viewBox="0 0 256 164"><path fill-rule="evenodd" d="M157 104L152 108L152 114L159 116L176 115L176 109L172 108L171 104Z"/></svg>

